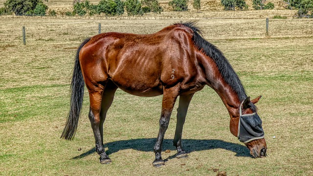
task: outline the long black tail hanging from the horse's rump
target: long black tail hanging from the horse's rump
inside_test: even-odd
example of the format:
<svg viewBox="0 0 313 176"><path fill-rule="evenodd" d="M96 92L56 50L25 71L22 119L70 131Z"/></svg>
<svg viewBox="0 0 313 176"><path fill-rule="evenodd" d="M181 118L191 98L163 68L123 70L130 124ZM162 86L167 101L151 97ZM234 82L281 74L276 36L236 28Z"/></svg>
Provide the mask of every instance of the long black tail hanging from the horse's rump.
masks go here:
<svg viewBox="0 0 313 176"><path fill-rule="evenodd" d="M83 105L84 97L84 78L82 70L79 64L79 52L82 47L87 44L90 39L86 39L77 49L75 66L73 70L72 83L70 85L71 97L70 97L70 110L67 116L67 124L62 132L61 138L72 140L75 136L80 110Z"/></svg>

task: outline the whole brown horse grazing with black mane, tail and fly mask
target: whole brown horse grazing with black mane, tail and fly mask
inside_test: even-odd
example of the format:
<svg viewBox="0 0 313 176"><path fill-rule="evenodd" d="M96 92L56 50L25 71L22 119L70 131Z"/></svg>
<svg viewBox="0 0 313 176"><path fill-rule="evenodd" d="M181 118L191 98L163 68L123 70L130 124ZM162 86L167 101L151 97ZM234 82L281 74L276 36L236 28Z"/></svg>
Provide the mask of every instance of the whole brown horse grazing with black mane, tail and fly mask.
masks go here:
<svg viewBox="0 0 313 176"><path fill-rule="evenodd" d="M117 88L137 96L163 94L154 147L156 167L164 165L162 141L178 96L173 142L178 152L176 157L187 157L181 144L182 128L190 100L205 85L219 94L227 108L230 132L246 144L253 157L266 156L262 121L254 105L261 96L250 101L223 53L201 37L193 22L174 24L155 34L108 32L85 40L76 54L71 106L62 138L71 140L75 135L84 83L89 91L89 120L96 152L102 164L111 162L103 147L103 123Z"/></svg>

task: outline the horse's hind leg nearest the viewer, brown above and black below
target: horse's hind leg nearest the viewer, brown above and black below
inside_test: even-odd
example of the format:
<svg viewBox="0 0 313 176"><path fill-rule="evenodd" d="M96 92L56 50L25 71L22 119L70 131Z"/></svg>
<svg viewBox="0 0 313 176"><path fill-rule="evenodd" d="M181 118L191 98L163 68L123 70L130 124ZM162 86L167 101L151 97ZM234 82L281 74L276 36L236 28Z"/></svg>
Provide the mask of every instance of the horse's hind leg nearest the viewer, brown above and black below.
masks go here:
<svg viewBox="0 0 313 176"><path fill-rule="evenodd" d="M111 163L112 161L104 150L101 132L99 128L103 88L104 88L103 86L99 85L99 87L96 87L95 90L89 89L89 99L90 99L89 120L91 123L91 128L96 143L96 152L100 155L100 163L106 164Z"/></svg>

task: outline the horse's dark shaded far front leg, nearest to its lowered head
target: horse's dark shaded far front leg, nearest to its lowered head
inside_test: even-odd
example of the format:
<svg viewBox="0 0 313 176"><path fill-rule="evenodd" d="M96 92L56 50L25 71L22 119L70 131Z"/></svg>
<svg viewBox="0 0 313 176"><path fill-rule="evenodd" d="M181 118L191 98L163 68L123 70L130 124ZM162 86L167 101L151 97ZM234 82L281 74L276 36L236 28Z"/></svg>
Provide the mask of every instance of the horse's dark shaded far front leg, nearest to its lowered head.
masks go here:
<svg viewBox="0 0 313 176"><path fill-rule="evenodd" d="M193 95L194 94L192 93L189 95L180 95L179 97L179 107L177 109L177 124L175 137L173 140L173 145L177 148L177 158L188 157L187 153L181 147L181 134L183 125L185 123L188 106Z"/></svg>

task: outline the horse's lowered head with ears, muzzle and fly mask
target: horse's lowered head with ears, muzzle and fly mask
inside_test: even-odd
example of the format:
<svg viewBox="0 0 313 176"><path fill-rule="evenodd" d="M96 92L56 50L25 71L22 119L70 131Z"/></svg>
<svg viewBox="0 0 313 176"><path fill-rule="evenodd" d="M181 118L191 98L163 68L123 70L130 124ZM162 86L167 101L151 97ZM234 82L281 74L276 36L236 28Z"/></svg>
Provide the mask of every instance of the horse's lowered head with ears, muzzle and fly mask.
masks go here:
<svg viewBox="0 0 313 176"><path fill-rule="evenodd" d="M266 156L267 150L262 121L254 106L260 98L261 96L258 96L250 101L250 97L247 97L241 103L239 116L233 116L230 120L230 132L245 143L250 154L255 158Z"/></svg>

